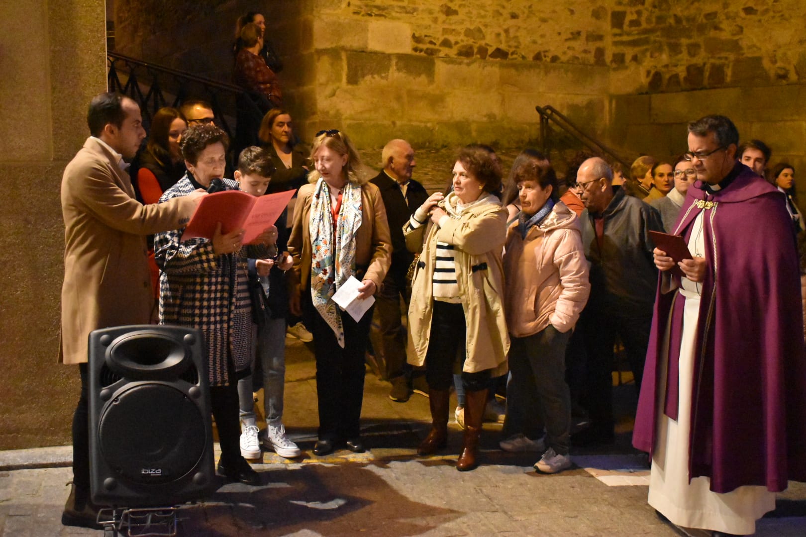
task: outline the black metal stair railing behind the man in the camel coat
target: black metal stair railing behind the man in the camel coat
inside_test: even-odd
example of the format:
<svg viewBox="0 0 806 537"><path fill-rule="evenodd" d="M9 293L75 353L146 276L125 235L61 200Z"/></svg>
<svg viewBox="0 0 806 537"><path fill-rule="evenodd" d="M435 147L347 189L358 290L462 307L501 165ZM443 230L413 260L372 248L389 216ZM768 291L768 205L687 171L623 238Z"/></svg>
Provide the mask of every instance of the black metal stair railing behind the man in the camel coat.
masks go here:
<svg viewBox="0 0 806 537"><path fill-rule="evenodd" d="M117 91L134 99L140 106L146 128L151 125L157 110L164 106L179 106L189 99L209 102L218 126L226 130L230 139L235 134L231 122L237 115L238 105L251 106L254 109L248 113L263 117L263 112L238 85L138 60L118 52L107 52L106 56L109 62L109 91Z"/></svg>

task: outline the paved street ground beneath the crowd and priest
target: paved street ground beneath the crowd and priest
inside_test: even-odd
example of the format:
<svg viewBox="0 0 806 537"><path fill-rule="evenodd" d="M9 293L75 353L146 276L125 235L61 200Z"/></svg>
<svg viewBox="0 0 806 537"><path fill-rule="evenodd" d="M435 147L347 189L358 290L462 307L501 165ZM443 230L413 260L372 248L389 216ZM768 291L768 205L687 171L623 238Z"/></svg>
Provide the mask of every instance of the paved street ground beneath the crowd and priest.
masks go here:
<svg viewBox="0 0 806 537"><path fill-rule="evenodd" d="M371 448L317 457L314 363L310 348L288 339L285 424L304 455L287 461L264 453L255 467L263 485L223 485L205 502L183 506L180 535L680 535L646 504L646 463L629 448L631 384L617 386L617 444L572 452L558 475L534 472L535 454L497 449L501 426L485 423L482 465L456 471L461 432L449 448L419 457L428 430L428 399L388 399L389 385L367 375L362 432ZM0 452L0 535L102 535L62 527L70 448ZM48 465L47 468L31 468ZM693 535L693 534L692 534ZM806 485L791 483L756 535L806 535Z"/></svg>

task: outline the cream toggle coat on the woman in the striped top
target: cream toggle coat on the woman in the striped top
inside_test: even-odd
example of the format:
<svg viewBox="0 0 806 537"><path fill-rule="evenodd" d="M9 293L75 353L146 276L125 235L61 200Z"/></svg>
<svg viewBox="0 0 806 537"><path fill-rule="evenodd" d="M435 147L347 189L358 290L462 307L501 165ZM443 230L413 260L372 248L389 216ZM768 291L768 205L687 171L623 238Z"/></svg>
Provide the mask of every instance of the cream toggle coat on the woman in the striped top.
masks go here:
<svg viewBox="0 0 806 537"><path fill-rule="evenodd" d="M409 304L408 361L413 366L426 362L434 310L431 286L439 241L456 247L456 281L467 324L463 370L476 373L492 369L493 376L506 373L509 335L501 304L504 296L501 252L506 239L506 218L506 209L501 204L484 203L465 209L459 218L451 217L442 228L430 221L417 229L412 229L410 223L403 226L406 247L420 253ZM487 264L486 269L472 270L482 263Z"/></svg>

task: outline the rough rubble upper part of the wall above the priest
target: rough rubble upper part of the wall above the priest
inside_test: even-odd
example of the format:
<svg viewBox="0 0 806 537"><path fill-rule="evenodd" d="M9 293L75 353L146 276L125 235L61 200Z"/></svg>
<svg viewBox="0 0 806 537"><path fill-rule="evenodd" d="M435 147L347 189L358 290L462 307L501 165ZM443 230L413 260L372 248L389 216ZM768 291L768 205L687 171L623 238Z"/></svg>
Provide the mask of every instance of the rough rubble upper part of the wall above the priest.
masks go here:
<svg viewBox="0 0 806 537"><path fill-rule="evenodd" d="M806 83L801 0L610 0L613 93Z"/></svg>

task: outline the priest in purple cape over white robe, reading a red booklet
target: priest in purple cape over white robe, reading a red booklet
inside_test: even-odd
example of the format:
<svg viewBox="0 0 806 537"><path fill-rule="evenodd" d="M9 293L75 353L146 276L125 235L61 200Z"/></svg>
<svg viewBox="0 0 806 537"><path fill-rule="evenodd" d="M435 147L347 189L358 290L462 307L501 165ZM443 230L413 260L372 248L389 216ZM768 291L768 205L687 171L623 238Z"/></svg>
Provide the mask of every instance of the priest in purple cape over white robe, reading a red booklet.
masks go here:
<svg viewBox="0 0 806 537"><path fill-rule="evenodd" d="M784 197L736 161L733 122L708 116L688 133L697 180L669 231L693 259L654 250L633 444L652 458L650 505L672 523L747 534L775 508L772 493L806 479L796 243Z"/></svg>

